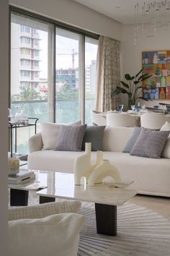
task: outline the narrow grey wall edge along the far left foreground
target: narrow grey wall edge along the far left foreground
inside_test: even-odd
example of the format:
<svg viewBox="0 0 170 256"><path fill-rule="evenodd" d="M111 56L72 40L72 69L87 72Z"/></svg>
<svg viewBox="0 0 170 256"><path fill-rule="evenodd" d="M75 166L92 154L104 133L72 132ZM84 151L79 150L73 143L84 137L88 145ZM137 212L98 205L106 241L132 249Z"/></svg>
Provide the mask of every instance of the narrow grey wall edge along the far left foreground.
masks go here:
<svg viewBox="0 0 170 256"><path fill-rule="evenodd" d="M7 101L9 87L9 4L1 0L0 8L0 255L7 256Z"/></svg>

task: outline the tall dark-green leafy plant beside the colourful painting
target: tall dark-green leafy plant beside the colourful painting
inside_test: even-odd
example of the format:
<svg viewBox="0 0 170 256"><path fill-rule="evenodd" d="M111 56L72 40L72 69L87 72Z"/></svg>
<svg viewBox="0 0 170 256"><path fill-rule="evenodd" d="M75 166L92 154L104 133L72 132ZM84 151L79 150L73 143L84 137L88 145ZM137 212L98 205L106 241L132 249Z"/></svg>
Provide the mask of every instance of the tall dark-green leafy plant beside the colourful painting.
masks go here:
<svg viewBox="0 0 170 256"><path fill-rule="evenodd" d="M141 90L143 88L142 82L148 80L148 78L151 77L152 74L148 74L148 73L141 74L143 72L143 69L144 67L140 69L140 71L137 74L133 75L132 77L130 76L130 74L125 74L125 80L127 80L128 82L120 81L123 87L117 86L117 88L111 95L111 97L114 98L116 95L120 93L127 93L128 109L131 108L131 105L136 105L138 103L139 98L145 101L148 101L146 98L143 98L140 95L141 95Z"/></svg>

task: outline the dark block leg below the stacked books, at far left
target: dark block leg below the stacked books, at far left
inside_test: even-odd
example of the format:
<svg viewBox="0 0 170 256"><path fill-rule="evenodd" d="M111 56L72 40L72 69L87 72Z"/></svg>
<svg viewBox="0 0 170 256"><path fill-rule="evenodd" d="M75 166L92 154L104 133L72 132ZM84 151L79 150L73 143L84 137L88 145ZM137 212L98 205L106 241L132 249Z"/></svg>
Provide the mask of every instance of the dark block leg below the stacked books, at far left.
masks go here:
<svg viewBox="0 0 170 256"><path fill-rule="evenodd" d="M10 205L11 206L27 206L28 191L19 189L10 189Z"/></svg>

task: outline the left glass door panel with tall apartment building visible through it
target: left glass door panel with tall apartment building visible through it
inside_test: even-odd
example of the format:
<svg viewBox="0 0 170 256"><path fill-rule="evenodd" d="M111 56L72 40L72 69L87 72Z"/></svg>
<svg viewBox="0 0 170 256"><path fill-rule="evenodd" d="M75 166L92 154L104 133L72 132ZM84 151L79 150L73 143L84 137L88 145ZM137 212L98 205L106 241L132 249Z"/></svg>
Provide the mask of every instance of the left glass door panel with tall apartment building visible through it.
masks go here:
<svg viewBox="0 0 170 256"><path fill-rule="evenodd" d="M53 121L53 25L12 13L11 116ZM13 119L14 119L13 118ZM17 129L17 151L27 153L32 129Z"/></svg>

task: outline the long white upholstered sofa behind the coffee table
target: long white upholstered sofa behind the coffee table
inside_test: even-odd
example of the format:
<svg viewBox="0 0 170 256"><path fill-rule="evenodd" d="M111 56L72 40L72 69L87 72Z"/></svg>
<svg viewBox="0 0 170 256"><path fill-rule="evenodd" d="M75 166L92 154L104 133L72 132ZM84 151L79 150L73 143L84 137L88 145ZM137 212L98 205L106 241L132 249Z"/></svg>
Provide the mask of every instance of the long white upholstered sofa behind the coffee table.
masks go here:
<svg viewBox="0 0 170 256"><path fill-rule="evenodd" d="M122 153L133 127L106 127L102 143L104 159L109 159L122 175L123 180L132 180L130 189L139 194L170 197L170 158L143 158ZM73 162L84 153L72 151L42 150L42 135L37 133L29 140L30 169L73 173ZM95 161L96 152L91 152Z"/></svg>

